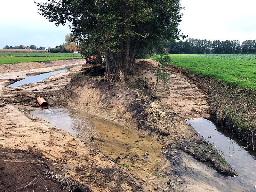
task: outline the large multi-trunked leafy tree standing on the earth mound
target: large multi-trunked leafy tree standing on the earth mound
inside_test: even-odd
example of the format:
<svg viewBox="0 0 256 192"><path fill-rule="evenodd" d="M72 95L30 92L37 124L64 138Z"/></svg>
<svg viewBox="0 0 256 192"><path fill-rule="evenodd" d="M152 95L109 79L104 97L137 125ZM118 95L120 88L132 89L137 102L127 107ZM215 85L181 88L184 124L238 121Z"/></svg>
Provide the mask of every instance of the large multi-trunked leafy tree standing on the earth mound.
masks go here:
<svg viewBox="0 0 256 192"><path fill-rule="evenodd" d="M140 50L152 50L161 39L179 39L180 0L48 0L40 14L68 23L84 57L100 54L106 76L127 74Z"/></svg>

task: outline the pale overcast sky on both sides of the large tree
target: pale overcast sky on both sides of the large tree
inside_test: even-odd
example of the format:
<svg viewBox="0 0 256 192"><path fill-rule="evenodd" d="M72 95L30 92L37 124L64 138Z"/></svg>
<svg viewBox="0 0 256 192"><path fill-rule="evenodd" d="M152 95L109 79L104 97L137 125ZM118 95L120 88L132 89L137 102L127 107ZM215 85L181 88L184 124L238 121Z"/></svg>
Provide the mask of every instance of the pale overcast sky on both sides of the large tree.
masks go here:
<svg viewBox="0 0 256 192"><path fill-rule="evenodd" d="M256 39L255 0L181 0L181 5L185 10L179 28L188 37ZM68 26L56 27L37 12L34 0L0 0L0 48L20 44L48 48L64 43Z"/></svg>

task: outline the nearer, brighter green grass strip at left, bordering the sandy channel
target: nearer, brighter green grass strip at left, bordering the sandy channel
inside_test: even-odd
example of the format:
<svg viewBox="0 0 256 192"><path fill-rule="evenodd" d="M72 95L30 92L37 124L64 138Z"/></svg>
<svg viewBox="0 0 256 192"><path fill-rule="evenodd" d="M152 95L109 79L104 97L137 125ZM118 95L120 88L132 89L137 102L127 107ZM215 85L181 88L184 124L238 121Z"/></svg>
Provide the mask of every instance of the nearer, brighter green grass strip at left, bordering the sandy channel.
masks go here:
<svg viewBox="0 0 256 192"><path fill-rule="evenodd" d="M77 59L82 57L51 57L50 60L61 60L61 59ZM49 61L49 57L0 57L0 65L2 64L12 64L21 62L33 62L33 61Z"/></svg>

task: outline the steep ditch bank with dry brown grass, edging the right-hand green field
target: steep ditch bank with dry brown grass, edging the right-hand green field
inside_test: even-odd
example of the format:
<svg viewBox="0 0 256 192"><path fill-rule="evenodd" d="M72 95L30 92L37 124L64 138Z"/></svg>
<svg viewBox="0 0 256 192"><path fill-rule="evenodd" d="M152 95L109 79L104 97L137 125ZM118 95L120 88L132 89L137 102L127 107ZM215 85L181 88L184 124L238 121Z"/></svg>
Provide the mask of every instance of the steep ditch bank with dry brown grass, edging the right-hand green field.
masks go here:
<svg viewBox="0 0 256 192"><path fill-rule="evenodd" d="M211 120L220 124L247 147L254 149L256 143L256 100L255 90L237 87L211 77L191 74L185 68L170 65L170 70L186 75L208 94Z"/></svg>

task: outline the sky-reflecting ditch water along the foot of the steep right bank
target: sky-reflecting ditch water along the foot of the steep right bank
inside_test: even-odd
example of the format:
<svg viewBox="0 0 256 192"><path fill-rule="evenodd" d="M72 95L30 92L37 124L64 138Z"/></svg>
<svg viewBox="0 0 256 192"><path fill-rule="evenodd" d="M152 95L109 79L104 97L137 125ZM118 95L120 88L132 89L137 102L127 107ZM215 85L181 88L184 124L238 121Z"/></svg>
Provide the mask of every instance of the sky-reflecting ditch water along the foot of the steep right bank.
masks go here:
<svg viewBox="0 0 256 192"><path fill-rule="evenodd" d="M236 135L224 132L221 127L204 118L187 119L186 122L204 136L206 141L213 143L236 170L239 176L229 178L230 181L242 186L245 191L256 191L256 153L246 148L246 141L239 141Z"/></svg>

